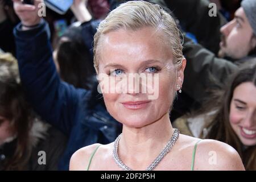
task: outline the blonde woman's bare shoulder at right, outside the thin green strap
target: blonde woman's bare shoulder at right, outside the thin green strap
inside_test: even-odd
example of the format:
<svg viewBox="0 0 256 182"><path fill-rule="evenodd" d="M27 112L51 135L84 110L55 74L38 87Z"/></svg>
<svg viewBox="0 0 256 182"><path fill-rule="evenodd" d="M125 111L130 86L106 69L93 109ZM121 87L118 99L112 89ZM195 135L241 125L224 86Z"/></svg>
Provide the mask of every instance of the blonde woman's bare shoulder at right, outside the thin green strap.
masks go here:
<svg viewBox="0 0 256 182"><path fill-rule="evenodd" d="M195 170L245 170L238 152L226 143L204 139L197 144Z"/></svg>

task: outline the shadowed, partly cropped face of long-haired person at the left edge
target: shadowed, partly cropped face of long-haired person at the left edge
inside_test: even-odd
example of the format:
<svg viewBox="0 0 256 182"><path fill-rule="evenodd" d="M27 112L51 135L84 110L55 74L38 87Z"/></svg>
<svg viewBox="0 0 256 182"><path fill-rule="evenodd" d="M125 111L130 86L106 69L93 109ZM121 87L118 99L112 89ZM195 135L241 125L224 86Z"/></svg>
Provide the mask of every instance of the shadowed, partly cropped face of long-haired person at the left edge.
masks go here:
<svg viewBox="0 0 256 182"><path fill-rule="evenodd" d="M10 121L0 115L0 145L5 142L7 138L12 136L10 131Z"/></svg>

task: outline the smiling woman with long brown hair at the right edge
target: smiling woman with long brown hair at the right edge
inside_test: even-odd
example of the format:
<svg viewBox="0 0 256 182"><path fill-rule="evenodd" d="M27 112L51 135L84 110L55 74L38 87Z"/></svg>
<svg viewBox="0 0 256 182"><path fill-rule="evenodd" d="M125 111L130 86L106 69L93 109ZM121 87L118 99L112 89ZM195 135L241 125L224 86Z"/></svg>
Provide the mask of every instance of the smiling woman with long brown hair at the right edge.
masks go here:
<svg viewBox="0 0 256 182"><path fill-rule="evenodd" d="M215 90L204 110L196 113L177 119L174 125L181 133L228 143L238 151L247 170L256 169L255 59Z"/></svg>

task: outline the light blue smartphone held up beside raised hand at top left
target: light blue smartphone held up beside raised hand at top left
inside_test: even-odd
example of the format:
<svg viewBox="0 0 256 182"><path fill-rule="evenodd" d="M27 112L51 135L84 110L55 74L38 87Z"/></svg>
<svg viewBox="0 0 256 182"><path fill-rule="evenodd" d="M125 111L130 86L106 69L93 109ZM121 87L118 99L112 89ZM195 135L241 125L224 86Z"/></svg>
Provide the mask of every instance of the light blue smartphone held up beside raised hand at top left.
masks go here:
<svg viewBox="0 0 256 182"><path fill-rule="evenodd" d="M73 0L44 0L44 3L49 9L63 15L71 7Z"/></svg>

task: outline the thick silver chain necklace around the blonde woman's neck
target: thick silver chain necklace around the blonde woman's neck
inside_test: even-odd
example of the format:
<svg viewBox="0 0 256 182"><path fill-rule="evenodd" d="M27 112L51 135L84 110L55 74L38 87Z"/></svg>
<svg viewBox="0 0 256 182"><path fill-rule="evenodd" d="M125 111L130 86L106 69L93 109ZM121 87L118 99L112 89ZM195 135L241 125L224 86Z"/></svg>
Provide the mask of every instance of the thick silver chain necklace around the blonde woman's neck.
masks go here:
<svg viewBox="0 0 256 182"><path fill-rule="evenodd" d="M122 160L119 158L119 156L117 154L118 143L119 143L119 140L120 140L121 137L122 137L122 134L120 134L117 137L117 139L115 139L115 142L114 142L114 151L113 151L114 161L124 171L133 171L133 169L131 169L128 166L126 166L125 164L123 164ZM146 168L145 171L152 171L156 166L158 166L158 164L164 158L164 156L166 156L166 154L168 152L170 152L170 150L174 146L174 144L175 144L175 142L176 142L178 137L179 137L179 130L178 129L174 129L174 134L172 135L172 137L170 138L170 140L168 141L166 146L163 148L163 150L160 152L160 154L155 158L155 160L150 164L150 166L148 166Z"/></svg>

